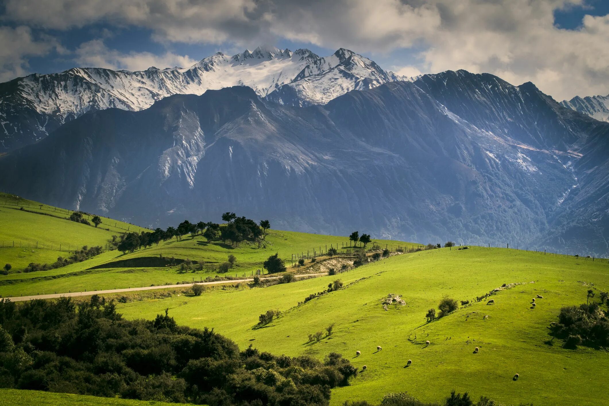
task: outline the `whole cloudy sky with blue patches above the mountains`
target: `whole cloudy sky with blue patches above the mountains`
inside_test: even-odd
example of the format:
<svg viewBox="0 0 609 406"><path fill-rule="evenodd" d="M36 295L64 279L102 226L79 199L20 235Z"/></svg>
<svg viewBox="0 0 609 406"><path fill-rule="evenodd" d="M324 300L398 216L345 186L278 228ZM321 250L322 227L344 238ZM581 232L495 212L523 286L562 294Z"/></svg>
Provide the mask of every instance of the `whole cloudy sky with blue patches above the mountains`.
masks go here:
<svg viewBox="0 0 609 406"><path fill-rule="evenodd" d="M557 100L609 94L609 0L0 0L0 44L0 82L262 45L344 47L408 76L488 72Z"/></svg>

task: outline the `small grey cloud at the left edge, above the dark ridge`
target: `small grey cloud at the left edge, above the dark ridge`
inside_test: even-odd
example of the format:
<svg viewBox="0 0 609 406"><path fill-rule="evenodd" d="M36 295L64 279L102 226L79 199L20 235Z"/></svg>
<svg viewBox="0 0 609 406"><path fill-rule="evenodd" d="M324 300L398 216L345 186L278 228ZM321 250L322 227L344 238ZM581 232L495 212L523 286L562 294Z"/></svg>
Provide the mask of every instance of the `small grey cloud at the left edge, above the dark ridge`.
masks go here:
<svg viewBox="0 0 609 406"><path fill-rule="evenodd" d="M63 53L54 38L42 35L34 38L29 27L0 27L0 82L29 74L30 57L40 57L52 49Z"/></svg>

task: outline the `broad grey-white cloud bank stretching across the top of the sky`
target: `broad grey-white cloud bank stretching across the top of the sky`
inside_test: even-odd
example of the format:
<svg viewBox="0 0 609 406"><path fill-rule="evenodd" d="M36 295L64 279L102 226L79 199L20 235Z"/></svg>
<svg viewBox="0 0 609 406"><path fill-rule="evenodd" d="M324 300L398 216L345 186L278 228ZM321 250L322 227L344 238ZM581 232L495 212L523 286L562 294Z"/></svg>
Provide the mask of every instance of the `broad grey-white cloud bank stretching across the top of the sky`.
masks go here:
<svg viewBox="0 0 609 406"><path fill-rule="evenodd" d="M4 19L42 29L144 27L161 43L256 46L287 39L381 59L415 49L416 63L393 58L392 65L404 65L404 72L489 72L515 85L530 80L562 99L609 93L608 16L585 16L576 30L554 24L555 10L584 6L585 0L5 0ZM135 53L106 61L139 66L146 56L152 58Z"/></svg>

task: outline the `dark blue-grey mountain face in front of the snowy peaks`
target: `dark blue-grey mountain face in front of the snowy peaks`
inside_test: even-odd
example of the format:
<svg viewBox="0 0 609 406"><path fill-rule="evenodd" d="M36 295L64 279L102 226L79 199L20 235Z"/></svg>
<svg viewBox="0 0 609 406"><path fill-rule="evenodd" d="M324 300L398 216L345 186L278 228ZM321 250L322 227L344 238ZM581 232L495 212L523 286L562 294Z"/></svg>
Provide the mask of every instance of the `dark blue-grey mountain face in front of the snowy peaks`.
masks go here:
<svg viewBox="0 0 609 406"><path fill-rule="evenodd" d="M463 71L307 108L234 87L85 114L0 158L0 187L143 225L234 211L280 229L607 254L608 136L535 86Z"/></svg>

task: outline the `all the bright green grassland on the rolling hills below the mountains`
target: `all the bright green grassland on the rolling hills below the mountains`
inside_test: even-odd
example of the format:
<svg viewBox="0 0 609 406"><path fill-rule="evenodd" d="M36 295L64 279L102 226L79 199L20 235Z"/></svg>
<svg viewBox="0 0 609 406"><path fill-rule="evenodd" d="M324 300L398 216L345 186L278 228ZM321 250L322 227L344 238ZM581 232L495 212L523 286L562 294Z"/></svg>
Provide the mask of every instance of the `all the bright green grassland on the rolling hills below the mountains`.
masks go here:
<svg viewBox="0 0 609 406"><path fill-rule="evenodd" d="M135 226L116 222L114 230L102 225L94 228L66 220L68 211L63 211L63 217L41 215L39 212L55 211L31 201L21 211L16 208L28 201L19 199L19 205L2 205L2 197L10 201L0 195L0 240L45 243L44 248L0 248L0 265L13 265L9 275L0 275L3 297L158 286L201 281L208 276L251 276L275 253L286 261L288 270L312 273L326 257L315 264L308 259L305 267L294 268L290 267L292 259L296 262L300 255L310 256L314 250L319 253L329 247L337 247L342 253L348 250L347 237L291 231L269 230L259 245L243 242L234 247L188 235L133 253L105 251L66 267L21 273L20 268L29 262L51 263L57 256L66 256L65 243L75 247L105 245L118 234L118 226L132 230ZM104 221L109 224L114 220ZM47 248L47 243L52 247ZM55 249L59 243L62 251ZM374 243L392 251L419 246L389 240ZM504 248L457 248L396 254L339 275L269 287L208 287L200 296L143 295L118 304L118 310L125 318L150 320L168 308L178 324L213 327L241 349L252 345L273 354L309 354L319 359L329 352L340 352L360 373L349 386L332 391L331 404L335 406L347 400L378 404L384 394L397 391L408 391L421 401L442 401L453 389L468 391L474 399L484 395L505 404L599 404L599 394L609 388L604 379L609 353L582 346L565 349L560 340L549 335L548 326L557 320L561 307L585 303L588 289L596 292L593 300L609 290L607 260ZM236 256L235 266L226 274L218 274L213 265L227 261L229 254ZM203 270L195 267L186 272L178 266L150 265L160 257L188 258L205 265ZM342 289L304 303L305 298L322 292L336 279L342 281ZM491 296L495 304L473 301L494 289L498 289ZM390 304L385 310L382 300L390 294L399 295L405 304ZM538 298L533 308L531 299L537 295L543 298ZM444 296L470 303L445 317L426 321L428 309L437 309ZM266 326L256 326L258 316L271 309L280 310L280 317ZM334 327L328 335L325 328L330 324ZM323 333L322 340L309 341L309 334L318 331ZM382 349L377 350L377 346ZM474 353L476 347L479 352ZM356 351L361 355L356 356ZM408 360L412 360L410 366ZM516 373L519 379L513 380ZM163 405L14 390L2 390L0 398L0 405L19 401Z"/></svg>

